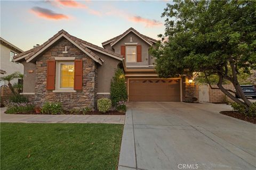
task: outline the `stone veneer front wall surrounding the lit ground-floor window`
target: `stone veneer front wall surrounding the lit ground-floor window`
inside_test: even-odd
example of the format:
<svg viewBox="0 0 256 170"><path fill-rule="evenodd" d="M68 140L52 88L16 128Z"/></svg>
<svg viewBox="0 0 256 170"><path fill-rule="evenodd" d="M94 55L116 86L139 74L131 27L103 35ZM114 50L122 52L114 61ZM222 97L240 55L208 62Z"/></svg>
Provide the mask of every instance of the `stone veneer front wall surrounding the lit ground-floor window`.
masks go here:
<svg viewBox="0 0 256 170"><path fill-rule="evenodd" d="M62 54L67 46L67 54ZM75 57L83 60L83 90L76 92L55 93L46 90L47 60L54 60L54 57ZM36 83L35 83L35 105L42 107L47 101L60 102L64 109L82 108L85 106L95 107L95 94L97 87L95 80L97 76L97 65L75 45L65 38L59 40L42 56L39 56L36 63Z"/></svg>

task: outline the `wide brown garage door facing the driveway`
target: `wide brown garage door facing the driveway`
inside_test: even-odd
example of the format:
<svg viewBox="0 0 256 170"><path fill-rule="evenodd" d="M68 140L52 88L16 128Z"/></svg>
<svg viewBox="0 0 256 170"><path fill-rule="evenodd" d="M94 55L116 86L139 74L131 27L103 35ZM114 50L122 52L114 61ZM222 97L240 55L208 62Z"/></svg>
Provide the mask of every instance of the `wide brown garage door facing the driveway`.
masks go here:
<svg viewBox="0 0 256 170"><path fill-rule="evenodd" d="M130 79L129 101L180 101L180 79Z"/></svg>

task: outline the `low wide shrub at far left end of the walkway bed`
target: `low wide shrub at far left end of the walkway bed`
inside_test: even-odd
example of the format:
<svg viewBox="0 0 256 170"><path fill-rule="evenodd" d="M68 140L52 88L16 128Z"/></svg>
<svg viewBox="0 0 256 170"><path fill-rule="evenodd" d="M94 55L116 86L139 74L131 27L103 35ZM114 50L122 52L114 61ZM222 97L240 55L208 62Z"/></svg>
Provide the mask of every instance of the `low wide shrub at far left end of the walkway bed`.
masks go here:
<svg viewBox="0 0 256 170"><path fill-rule="evenodd" d="M6 113L15 114L15 113L28 113L34 111L34 105L30 103L14 103L12 101L7 101L5 103L7 107Z"/></svg>

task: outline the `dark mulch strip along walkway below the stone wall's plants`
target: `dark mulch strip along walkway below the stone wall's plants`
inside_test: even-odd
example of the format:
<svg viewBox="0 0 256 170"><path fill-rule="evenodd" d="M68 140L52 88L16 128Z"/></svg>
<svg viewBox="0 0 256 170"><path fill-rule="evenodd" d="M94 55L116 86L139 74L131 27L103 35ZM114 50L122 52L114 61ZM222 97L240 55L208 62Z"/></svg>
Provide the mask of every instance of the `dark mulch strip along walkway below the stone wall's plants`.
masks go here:
<svg viewBox="0 0 256 170"><path fill-rule="evenodd" d="M36 113L36 112L19 112L15 114L20 114L20 115L43 115L42 113ZM106 113L101 113L99 111L90 111L87 112L86 114L83 114L82 112L80 113L70 113L69 111L64 111L61 115L125 115L125 113L118 112L118 111L109 111Z"/></svg>

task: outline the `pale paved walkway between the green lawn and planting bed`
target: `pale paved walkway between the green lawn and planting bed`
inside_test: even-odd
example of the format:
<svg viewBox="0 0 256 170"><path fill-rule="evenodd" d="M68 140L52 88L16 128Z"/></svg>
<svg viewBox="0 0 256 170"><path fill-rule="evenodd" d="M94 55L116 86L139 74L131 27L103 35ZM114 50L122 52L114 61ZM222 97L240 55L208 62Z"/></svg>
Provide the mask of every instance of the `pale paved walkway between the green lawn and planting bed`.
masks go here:
<svg viewBox="0 0 256 170"><path fill-rule="evenodd" d="M1 122L18 123L113 123L124 124L125 115L15 115L5 114L1 108Z"/></svg>

